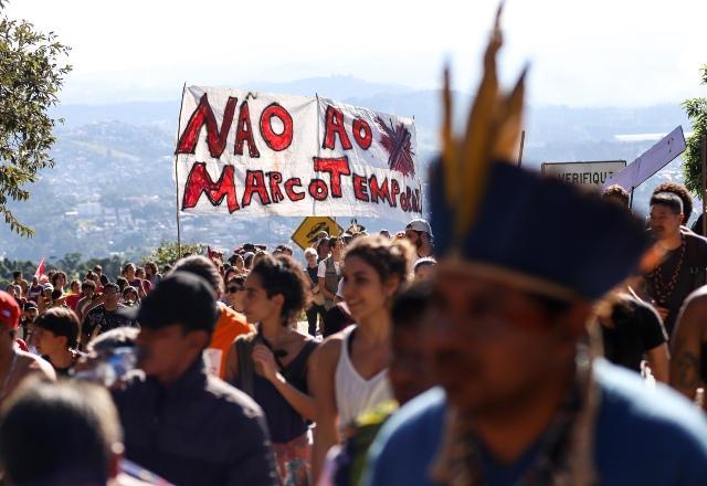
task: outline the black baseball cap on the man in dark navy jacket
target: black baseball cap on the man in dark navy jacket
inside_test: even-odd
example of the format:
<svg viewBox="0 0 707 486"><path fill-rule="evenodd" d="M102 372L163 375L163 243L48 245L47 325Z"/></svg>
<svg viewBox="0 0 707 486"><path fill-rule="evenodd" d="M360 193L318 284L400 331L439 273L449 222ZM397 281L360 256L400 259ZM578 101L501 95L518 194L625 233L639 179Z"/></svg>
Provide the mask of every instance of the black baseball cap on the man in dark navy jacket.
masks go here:
<svg viewBox="0 0 707 486"><path fill-rule="evenodd" d="M219 318L213 288L200 276L179 271L161 279L139 307L122 309L120 314L148 329L180 324L208 332Z"/></svg>

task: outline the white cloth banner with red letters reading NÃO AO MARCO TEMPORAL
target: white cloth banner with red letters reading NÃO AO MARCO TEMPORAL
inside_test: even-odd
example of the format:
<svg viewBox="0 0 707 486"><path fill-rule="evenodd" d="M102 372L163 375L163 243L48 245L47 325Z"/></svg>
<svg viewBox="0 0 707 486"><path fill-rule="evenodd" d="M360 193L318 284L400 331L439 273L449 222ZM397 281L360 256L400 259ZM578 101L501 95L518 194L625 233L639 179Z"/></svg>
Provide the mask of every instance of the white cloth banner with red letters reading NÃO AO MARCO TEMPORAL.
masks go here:
<svg viewBox="0 0 707 486"><path fill-rule="evenodd" d="M331 99L188 87L176 160L189 213L422 213L413 122Z"/></svg>

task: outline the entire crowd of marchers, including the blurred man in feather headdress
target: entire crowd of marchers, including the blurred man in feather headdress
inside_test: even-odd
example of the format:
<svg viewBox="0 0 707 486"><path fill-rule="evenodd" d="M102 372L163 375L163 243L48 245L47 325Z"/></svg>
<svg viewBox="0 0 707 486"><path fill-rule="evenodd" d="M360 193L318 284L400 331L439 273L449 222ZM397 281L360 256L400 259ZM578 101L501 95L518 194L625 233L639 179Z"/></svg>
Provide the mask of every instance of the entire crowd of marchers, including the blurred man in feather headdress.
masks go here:
<svg viewBox="0 0 707 486"><path fill-rule="evenodd" d="M431 221L0 292L10 485L705 485L707 239L687 190L509 162L495 31L449 86ZM483 127L481 129L479 127ZM511 194L511 196L509 196ZM113 278L112 278L113 277Z"/></svg>

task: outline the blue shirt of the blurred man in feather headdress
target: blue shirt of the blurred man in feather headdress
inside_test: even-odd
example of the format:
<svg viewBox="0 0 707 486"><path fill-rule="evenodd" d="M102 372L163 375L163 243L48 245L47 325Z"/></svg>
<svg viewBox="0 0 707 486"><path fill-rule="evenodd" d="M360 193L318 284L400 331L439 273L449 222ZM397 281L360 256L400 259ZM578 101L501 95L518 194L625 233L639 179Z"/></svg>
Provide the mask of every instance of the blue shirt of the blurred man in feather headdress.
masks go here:
<svg viewBox="0 0 707 486"><path fill-rule="evenodd" d="M601 388L595 469L602 485L707 485L707 420L664 385L650 389L631 371L597 360ZM431 390L403 406L381 430L369 452L368 484L432 485L428 472L444 431L446 400ZM492 484L514 484L532 464L532 447L500 468L482 451ZM520 467L516 467L520 466Z"/></svg>

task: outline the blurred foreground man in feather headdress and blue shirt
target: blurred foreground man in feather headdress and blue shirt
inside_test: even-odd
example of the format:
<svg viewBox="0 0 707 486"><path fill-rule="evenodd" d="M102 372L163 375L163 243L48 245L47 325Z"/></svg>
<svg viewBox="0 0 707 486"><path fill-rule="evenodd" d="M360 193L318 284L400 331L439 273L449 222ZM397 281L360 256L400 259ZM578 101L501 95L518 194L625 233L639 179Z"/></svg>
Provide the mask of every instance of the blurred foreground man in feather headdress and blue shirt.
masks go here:
<svg viewBox="0 0 707 486"><path fill-rule="evenodd" d="M647 265L643 224L503 161L516 160L523 78L499 96L499 46L496 27L465 139L452 135L445 86L444 152L430 178L435 325L424 339L441 388L383 427L369 484L707 484L701 413L597 358L595 304Z"/></svg>

